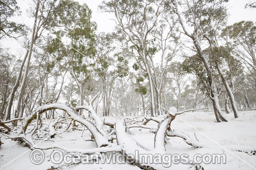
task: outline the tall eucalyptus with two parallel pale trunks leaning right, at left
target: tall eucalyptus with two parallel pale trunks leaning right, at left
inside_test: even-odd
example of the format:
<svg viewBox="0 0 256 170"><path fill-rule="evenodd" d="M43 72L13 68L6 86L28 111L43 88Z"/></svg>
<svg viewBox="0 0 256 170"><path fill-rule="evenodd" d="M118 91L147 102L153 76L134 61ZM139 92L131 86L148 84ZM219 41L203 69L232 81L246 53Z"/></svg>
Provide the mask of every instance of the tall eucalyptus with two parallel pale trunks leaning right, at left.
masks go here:
<svg viewBox="0 0 256 170"><path fill-rule="evenodd" d="M19 74L17 76L16 82L13 85L12 92L9 96L5 120L10 119L13 98L14 98L15 92L17 91L18 87L20 86L20 79L21 79L23 67L25 65L24 73L22 75L22 82L21 82L21 86L20 86L18 102L15 107L15 112L17 112L17 115L20 113L20 105L21 105L21 101L22 101L23 94L25 91L27 75L28 75L28 71L29 71L29 64L30 64L30 60L32 57L32 52L33 52L33 46L34 46L34 43L36 42L36 40L42 36L45 29L49 26L47 23L47 20L49 19L50 14L53 13L56 3L57 3L57 0L36 0L36 1L33 1L32 7L28 11L30 17L34 18L33 28L32 28L32 32L31 32L31 38L28 41L27 45L25 45L26 53L24 55L24 59L23 59L21 65L20 65L20 70L19 70Z"/></svg>

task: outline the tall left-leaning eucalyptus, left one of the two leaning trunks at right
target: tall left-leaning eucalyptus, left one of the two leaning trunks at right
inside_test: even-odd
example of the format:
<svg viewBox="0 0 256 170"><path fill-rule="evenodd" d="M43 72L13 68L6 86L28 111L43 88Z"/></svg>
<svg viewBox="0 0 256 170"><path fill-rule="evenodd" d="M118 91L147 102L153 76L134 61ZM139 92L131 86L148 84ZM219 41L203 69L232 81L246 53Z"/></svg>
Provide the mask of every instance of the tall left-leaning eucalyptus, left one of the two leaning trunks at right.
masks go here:
<svg viewBox="0 0 256 170"><path fill-rule="evenodd" d="M205 87L208 88L207 94L213 103L216 120L218 122L228 120L223 115L219 104L219 94L214 76L214 65L211 64L210 58L207 57L206 52L203 51L205 48L203 44L206 43L206 47L211 46L210 48L216 45L216 35L220 31L223 21L227 18L226 1L227 0L172 0L166 1L165 3L170 13L175 13L182 27L182 33L188 37L191 44L193 44L193 50L196 53L194 58L196 63L198 63L197 66L200 66L197 69L201 69L197 71L201 72L199 74L201 81L205 84ZM187 61L189 62L189 60Z"/></svg>

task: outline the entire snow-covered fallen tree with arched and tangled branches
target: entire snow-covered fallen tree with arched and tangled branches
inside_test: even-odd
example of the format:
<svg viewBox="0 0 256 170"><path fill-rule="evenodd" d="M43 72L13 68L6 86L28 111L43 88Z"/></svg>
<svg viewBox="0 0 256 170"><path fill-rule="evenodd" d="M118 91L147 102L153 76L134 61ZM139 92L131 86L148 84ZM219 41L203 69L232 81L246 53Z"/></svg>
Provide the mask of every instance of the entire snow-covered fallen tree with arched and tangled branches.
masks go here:
<svg viewBox="0 0 256 170"><path fill-rule="evenodd" d="M42 123L40 120L41 114L46 112L47 110L52 110L52 109L63 110L68 114L68 116L58 117L53 122L50 122L49 125ZM85 119L85 118L81 117L81 115L78 115L77 110L79 110L79 109L88 109L88 111L90 111L91 114L93 115L92 118ZM115 123L115 129L113 129L111 127L103 128L103 125L105 124L105 119L102 121L101 118L98 117L96 112L94 112L94 110L91 110L91 109L93 109L93 108L85 107L85 106L76 107L74 109L72 107L67 106L66 104L61 104L61 103L48 104L45 106L38 107L35 112L33 112L30 116L28 116L27 118L24 119L23 126L22 126L23 129L20 129L21 132L23 132L23 133L20 132L20 133L18 133L19 135L17 135L17 136L10 136L10 135L3 134L3 133L1 133L1 134L7 136L7 138L24 142L31 149L48 150L48 149L55 148L55 149L61 149L66 152L83 153L83 154L94 154L96 152L124 153L124 158L126 161L128 160L129 164L134 164L134 165L138 166L139 168L145 169L145 170L162 170L162 169L170 168L171 163L167 166L164 162L162 162L161 164L159 164L159 163L155 164L154 162L151 162L150 160L149 160L149 162L148 162L148 160L146 161L145 158L143 160L143 157L141 157L142 155L146 155L146 157L152 156L152 161L153 161L154 160L153 157L155 157L155 155L157 155L161 159L163 158L164 155L171 155L165 151L165 145L168 144L167 136L180 137L180 138L184 139L184 141L188 145L190 145L194 148L201 147L197 143L197 141L194 141L185 133L170 130L171 122L175 119L175 116L176 116L175 108L169 109L169 111L170 111L169 115L163 120L157 119L157 118L151 118L151 119L145 119L142 123L140 123L139 121L130 120L130 119L127 119L127 120L118 119L116 121L109 121L111 123L111 125L113 125ZM36 119L35 123L34 122L32 123L32 120L35 120L35 119ZM98 148L72 149L72 148L58 145L55 143L53 145L48 145L48 146L41 145L40 146L39 145L40 143L35 142L35 139L38 139L38 138L35 138L35 136L33 134L38 133L37 134L37 137L38 137L40 135L40 133L42 132L40 129L40 128L42 128L42 126L44 126L44 128L45 127L47 128L46 130L44 130L43 136L45 137L47 134L49 134L47 137L47 138L49 138L52 136L51 133L59 134L58 131L56 131L57 128L65 129L64 131L63 130L61 131L61 132L65 132L72 122L72 121L67 121L68 119L69 120L71 119L72 121L75 120L78 123L80 123L81 125L79 125L80 126L79 128L83 127L85 129L85 127L86 127L91 132L93 139L95 140ZM95 124L98 124L98 127L95 126L91 122L92 119L95 121ZM158 123L157 128L153 127L153 126L151 126L151 127L146 126L146 124L150 120ZM13 120L8 120L5 123L11 122L11 121L13 121ZM98 121L98 123L96 121ZM129 123L128 126L126 125L126 121L127 121L127 123ZM101 126L99 127L99 125L101 125ZM32 126L32 128L28 128L28 126ZM154 149L150 150L146 146L143 146L142 144L136 142L136 140L133 138L133 136L128 131L128 128L134 128L134 127L148 128L148 129L151 129L155 133ZM75 129L78 129L78 127L75 127ZM108 137L106 135L106 132L108 132ZM46 139L44 139L44 140L46 140ZM114 139L116 139L117 145L111 144L108 142L108 141L113 142ZM136 152L138 152L139 157L136 157ZM133 155L134 157L131 157L131 155ZM172 160L169 160L169 161L172 161ZM196 170L203 169L200 165L197 166L197 165L193 165L193 164L173 164L171 169L187 170L191 167L192 168L194 167L195 169L197 168Z"/></svg>

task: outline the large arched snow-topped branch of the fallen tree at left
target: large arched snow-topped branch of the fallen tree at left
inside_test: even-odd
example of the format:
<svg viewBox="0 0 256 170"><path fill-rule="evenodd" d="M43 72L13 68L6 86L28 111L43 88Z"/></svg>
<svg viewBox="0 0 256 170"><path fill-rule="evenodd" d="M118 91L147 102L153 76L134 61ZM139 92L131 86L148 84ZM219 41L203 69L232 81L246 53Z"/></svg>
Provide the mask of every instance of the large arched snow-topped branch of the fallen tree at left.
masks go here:
<svg viewBox="0 0 256 170"><path fill-rule="evenodd" d="M48 104L48 105L38 107L33 114L29 115L25 119L25 123L24 123L24 126L23 126L24 132L26 132L28 124L36 118L37 113L38 113L38 115L40 115L41 113L44 113L45 111L52 110L52 109L64 110L70 116L70 118L72 118L73 120L75 120L75 121L81 123L82 125L86 126L88 128L88 130L92 133L93 138L95 139L95 142L96 142L98 147L111 145L108 142L107 137L104 136L96 128L96 126L94 124L92 124L90 121L84 119L83 117L79 116L78 113L73 108L67 106L64 103L53 103L53 104Z"/></svg>

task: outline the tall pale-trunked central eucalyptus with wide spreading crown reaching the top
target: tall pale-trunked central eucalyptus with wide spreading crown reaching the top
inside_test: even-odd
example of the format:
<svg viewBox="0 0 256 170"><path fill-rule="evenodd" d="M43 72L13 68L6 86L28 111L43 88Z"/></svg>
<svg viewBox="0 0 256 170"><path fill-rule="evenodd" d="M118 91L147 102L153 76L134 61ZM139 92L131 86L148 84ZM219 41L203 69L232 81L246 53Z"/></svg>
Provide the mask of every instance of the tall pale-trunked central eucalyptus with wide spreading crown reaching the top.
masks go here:
<svg viewBox="0 0 256 170"><path fill-rule="evenodd" d="M168 33L163 35L161 32L154 31L157 28L164 28L163 24L165 23L161 21L164 12L163 7L163 0L109 0L103 1L100 6L102 11L115 14L116 29L125 34L128 42L131 44L131 50L135 50L137 53L134 56L135 60L138 62L141 60L142 64L139 66L148 74L151 116L156 115L156 111L159 111L155 107L155 89L160 93L161 83L154 84L152 75L154 63L152 63L152 58L158 50L154 43L150 43L152 40L154 41L155 35L159 43L164 47L165 42L171 37ZM169 26L166 25L167 28ZM162 35L162 37L159 37L159 35ZM162 52L164 52L165 56L166 51ZM164 65L165 63L163 63L162 73L164 73ZM157 81L161 82L161 80ZM160 103L157 104L160 105Z"/></svg>

